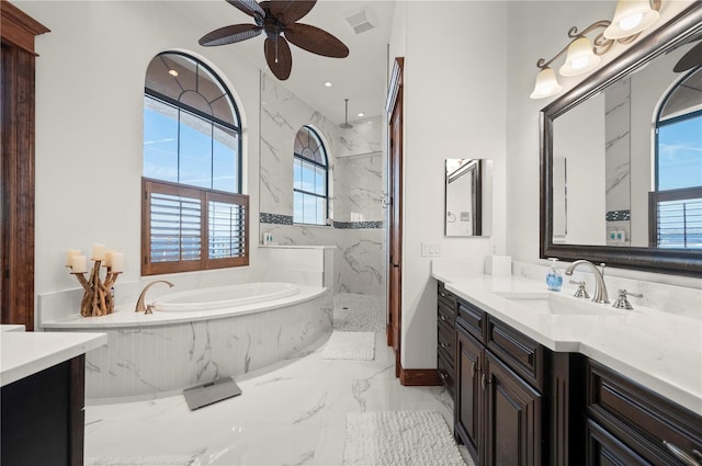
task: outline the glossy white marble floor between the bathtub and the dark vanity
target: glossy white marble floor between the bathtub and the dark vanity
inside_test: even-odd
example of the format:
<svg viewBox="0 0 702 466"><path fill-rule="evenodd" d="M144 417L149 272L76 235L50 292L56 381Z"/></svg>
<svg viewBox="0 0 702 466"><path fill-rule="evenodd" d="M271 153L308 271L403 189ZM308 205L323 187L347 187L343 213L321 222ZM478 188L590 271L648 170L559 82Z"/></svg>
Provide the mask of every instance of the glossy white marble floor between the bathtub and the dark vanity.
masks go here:
<svg viewBox="0 0 702 466"><path fill-rule="evenodd" d="M306 355L236 377L241 396L196 411L182 396L89 404L86 457L340 466L348 412L438 410L453 425L453 406L443 388L403 387L395 378L384 334L376 334L374 361L322 360L325 342L322 337Z"/></svg>

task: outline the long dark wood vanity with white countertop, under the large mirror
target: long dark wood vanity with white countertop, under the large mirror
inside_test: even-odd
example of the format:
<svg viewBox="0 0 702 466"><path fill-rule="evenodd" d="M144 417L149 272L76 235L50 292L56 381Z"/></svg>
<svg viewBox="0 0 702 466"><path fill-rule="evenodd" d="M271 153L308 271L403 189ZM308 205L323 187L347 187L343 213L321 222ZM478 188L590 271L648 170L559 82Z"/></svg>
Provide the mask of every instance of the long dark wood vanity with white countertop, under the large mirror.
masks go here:
<svg viewBox="0 0 702 466"><path fill-rule="evenodd" d="M702 321L432 275L438 371L477 465L702 464Z"/></svg>

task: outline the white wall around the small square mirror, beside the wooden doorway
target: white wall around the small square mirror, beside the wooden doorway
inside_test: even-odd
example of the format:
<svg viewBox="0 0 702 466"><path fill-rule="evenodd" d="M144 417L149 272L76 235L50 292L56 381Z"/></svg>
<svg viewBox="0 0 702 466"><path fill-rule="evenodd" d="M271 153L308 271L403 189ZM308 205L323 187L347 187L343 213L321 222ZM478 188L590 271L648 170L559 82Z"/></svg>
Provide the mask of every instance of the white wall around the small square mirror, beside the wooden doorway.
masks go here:
<svg viewBox="0 0 702 466"><path fill-rule="evenodd" d="M431 258L483 261L490 245L505 251L506 2L407 1L398 4L390 59L405 56L405 197L401 364L435 367L437 289ZM441 14L437 12L440 11ZM495 161L491 238L443 236L446 158Z"/></svg>

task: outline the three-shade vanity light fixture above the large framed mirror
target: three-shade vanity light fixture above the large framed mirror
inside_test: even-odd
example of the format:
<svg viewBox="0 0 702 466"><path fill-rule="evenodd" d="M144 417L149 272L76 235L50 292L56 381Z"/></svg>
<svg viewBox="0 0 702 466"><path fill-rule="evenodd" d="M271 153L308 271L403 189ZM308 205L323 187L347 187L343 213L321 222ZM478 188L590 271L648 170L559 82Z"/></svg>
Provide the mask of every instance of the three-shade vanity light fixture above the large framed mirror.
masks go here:
<svg viewBox="0 0 702 466"><path fill-rule="evenodd" d="M558 69L562 76L578 76L593 70L601 61L601 56L612 49L615 43L631 44L638 34L649 27L658 19L661 0L619 0L612 21L597 21L578 32L576 26L568 30L570 42L552 59L540 58L536 67L541 69L536 76L536 84L531 99L544 99L563 90L551 65L566 55L565 62ZM602 30L591 41L588 34Z"/></svg>

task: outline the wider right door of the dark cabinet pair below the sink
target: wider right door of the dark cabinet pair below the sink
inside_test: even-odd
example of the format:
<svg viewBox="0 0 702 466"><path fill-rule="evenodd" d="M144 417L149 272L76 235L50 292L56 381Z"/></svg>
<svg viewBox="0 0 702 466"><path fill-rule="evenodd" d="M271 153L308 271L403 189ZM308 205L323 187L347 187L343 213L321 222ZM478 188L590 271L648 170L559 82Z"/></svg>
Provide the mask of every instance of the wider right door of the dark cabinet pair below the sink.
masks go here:
<svg viewBox="0 0 702 466"><path fill-rule="evenodd" d="M485 462L541 466L542 397L491 352L485 352Z"/></svg>

